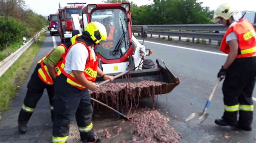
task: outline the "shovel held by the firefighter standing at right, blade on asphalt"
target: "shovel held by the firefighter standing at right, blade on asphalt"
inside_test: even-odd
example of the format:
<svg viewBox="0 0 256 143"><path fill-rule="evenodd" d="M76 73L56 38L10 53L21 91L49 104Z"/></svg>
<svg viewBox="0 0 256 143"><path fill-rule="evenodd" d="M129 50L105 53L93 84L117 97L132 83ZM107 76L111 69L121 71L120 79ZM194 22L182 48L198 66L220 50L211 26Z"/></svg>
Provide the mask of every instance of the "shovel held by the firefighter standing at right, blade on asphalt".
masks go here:
<svg viewBox="0 0 256 143"><path fill-rule="evenodd" d="M192 120L193 118L198 118L198 120L201 120L201 119L202 119L202 121L200 122L200 123L202 123L202 122L204 122L204 121L206 120L206 118L208 118L209 114L206 113L206 112L207 112L208 107L209 107L209 105L210 105L210 101L211 101L212 98L213 98L213 95L214 95L214 93L215 93L215 90L216 90L216 88L217 88L217 86L218 86L218 84L219 84L219 81L220 81L220 78L218 78L218 80L217 80L215 86L213 87L213 91L212 91L212 93L210 94L209 99L206 101L206 104L205 104L205 106L204 106L203 112L202 112L202 113L201 113L201 112L200 112L200 113L192 113L188 118L186 118L186 120L185 120L186 122Z"/></svg>

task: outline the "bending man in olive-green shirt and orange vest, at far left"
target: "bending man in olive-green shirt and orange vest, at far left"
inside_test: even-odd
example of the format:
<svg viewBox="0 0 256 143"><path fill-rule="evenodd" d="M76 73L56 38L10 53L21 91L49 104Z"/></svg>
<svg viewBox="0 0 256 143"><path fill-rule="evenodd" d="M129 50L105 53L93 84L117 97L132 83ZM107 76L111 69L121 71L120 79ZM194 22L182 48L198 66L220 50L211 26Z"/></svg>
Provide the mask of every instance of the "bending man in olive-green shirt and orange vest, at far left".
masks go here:
<svg viewBox="0 0 256 143"><path fill-rule="evenodd" d="M32 116L45 88L49 96L51 117L53 120L53 80L56 78L56 75L60 74L59 67L61 65L62 54L67 51L69 46L70 44L59 44L37 63L34 73L28 82L28 90L18 118L18 129L21 134L26 133L28 120Z"/></svg>

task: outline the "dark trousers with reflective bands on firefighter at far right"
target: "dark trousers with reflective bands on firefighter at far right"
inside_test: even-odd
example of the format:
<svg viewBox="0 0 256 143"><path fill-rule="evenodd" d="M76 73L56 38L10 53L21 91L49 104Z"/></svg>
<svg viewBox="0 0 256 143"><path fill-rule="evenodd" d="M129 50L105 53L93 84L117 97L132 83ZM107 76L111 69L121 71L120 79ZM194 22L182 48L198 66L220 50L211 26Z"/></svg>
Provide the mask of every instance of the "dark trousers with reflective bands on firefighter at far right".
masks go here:
<svg viewBox="0 0 256 143"><path fill-rule="evenodd" d="M256 57L235 59L223 82L225 111L223 120L236 126L251 126L253 121L252 93L256 81ZM226 109L227 107L230 107ZM248 108L248 109L244 109ZM251 108L251 109L250 109Z"/></svg>

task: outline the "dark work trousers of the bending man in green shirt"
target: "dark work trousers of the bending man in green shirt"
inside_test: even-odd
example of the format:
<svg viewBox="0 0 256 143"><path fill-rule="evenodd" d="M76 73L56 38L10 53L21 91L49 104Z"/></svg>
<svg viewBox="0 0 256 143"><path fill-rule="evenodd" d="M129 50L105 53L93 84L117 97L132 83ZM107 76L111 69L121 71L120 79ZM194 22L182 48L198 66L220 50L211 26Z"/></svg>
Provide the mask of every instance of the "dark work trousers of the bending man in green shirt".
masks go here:
<svg viewBox="0 0 256 143"><path fill-rule="evenodd" d="M54 95L54 86L45 84L38 76L37 71L40 68L40 64L37 64L34 73L32 74L29 82L28 82L28 90L26 97L24 99L24 103L22 105L22 109L20 110L18 122L20 123L28 123L28 120L33 114L33 111L37 105L37 102L43 95L43 90L46 88L51 109L51 117L53 120L53 95Z"/></svg>

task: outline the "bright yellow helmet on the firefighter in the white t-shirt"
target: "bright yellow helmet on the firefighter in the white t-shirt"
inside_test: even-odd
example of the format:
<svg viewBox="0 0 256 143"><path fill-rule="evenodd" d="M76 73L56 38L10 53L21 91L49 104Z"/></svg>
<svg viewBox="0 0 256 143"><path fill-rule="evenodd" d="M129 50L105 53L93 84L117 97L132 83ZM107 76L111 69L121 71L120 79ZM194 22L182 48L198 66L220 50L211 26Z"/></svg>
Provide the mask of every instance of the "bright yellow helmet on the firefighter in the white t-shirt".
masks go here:
<svg viewBox="0 0 256 143"><path fill-rule="evenodd" d="M95 44L99 44L100 41L106 40L107 38L106 27L97 21L88 23L85 27L85 32Z"/></svg>

